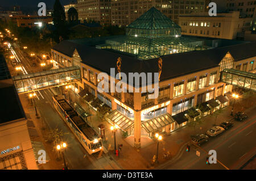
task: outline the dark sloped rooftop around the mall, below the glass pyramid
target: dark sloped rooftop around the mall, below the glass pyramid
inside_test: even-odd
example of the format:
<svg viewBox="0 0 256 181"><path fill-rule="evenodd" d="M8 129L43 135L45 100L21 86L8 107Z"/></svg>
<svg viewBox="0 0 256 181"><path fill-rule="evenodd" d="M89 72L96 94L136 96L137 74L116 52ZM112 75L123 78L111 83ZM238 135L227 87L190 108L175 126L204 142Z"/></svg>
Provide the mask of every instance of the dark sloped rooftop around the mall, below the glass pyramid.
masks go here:
<svg viewBox="0 0 256 181"><path fill-rule="evenodd" d="M158 58L151 58L147 61L138 60L134 56L97 49L95 47L88 47L69 40L61 41L61 43L55 45L53 49L64 53L69 57L72 57L74 50L77 49L84 64L108 73L109 75L110 68L115 68L115 72L117 73L116 62L118 57L122 58L121 71L126 74L134 72L158 72ZM228 52L232 55L234 61L254 57L256 56L256 43L244 43L163 56L163 69L160 81L217 67Z"/></svg>

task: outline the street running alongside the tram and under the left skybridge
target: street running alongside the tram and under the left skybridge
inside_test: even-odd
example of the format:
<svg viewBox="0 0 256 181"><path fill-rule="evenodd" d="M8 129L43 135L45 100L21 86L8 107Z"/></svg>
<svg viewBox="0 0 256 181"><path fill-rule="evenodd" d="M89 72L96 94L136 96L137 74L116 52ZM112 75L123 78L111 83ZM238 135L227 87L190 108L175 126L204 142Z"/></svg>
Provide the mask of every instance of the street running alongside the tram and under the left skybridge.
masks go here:
<svg viewBox="0 0 256 181"><path fill-rule="evenodd" d="M11 51L15 56L15 60L23 65L22 74L34 73L40 70L40 68L36 69L32 66L32 61L27 60L22 50L13 47ZM102 152L89 155L87 153L53 107L53 95L54 93L51 89L36 91L36 107L38 112L40 112L40 116L44 117L49 128L58 128L63 133L66 133L63 136L63 140L67 142L68 146L65 149L64 155L69 169L121 169L108 154Z"/></svg>

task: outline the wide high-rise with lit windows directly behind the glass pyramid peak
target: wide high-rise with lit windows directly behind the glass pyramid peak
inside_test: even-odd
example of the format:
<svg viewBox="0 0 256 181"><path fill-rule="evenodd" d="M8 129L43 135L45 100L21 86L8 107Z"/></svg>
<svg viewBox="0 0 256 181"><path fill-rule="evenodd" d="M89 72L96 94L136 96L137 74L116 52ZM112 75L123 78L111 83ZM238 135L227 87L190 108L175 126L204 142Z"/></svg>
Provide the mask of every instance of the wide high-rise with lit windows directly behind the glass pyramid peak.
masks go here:
<svg viewBox="0 0 256 181"><path fill-rule="evenodd" d="M173 22L177 23L179 14L204 12L205 0L112 0L112 24L119 27L127 26L152 6L170 18Z"/></svg>

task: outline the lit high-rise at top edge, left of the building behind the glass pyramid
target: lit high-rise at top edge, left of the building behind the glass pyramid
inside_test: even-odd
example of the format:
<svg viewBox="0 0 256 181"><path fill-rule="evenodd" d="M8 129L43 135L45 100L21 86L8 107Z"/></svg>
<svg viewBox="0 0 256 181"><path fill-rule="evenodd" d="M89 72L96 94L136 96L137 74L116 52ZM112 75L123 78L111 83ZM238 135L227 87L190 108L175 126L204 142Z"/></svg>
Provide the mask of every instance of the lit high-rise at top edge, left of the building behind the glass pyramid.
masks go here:
<svg viewBox="0 0 256 181"><path fill-rule="evenodd" d="M110 0L77 0L79 20L111 24Z"/></svg>

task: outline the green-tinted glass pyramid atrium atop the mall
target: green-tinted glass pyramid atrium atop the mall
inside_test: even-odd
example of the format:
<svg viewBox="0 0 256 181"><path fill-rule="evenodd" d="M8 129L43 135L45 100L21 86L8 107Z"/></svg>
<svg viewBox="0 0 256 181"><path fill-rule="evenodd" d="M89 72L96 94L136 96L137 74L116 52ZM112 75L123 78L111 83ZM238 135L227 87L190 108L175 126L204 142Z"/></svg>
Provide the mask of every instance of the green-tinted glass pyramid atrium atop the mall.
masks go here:
<svg viewBox="0 0 256 181"><path fill-rule="evenodd" d="M136 54L141 60L205 49L202 40L182 37L181 28L155 7L127 26L126 36L108 39L97 48Z"/></svg>

